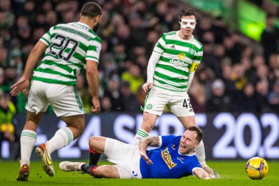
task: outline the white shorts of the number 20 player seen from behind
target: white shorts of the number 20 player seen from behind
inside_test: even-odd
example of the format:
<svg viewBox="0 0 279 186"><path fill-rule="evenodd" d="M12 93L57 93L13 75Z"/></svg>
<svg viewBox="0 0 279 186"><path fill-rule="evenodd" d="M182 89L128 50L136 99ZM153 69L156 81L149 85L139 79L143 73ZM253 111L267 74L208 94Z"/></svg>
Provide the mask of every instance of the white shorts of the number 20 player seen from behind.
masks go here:
<svg viewBox="0 0 279 186"><path fill-rule="evenodd" d="M51 105L56 116L71 116L84 114L75 85L64 85L32 80L28 100L25 105L30 112L45 112Z"/></svg>

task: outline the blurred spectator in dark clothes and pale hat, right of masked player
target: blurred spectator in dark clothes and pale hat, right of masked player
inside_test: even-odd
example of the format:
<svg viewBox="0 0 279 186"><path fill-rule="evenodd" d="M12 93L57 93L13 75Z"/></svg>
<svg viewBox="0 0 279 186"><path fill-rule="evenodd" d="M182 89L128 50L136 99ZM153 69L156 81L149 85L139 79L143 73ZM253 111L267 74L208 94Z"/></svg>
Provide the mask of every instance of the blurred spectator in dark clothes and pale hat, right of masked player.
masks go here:
<svg viewBox="0 0 279 186"><path fill-rule="evenodd" d="M225 85L221 79L215 79L211 84L211 97L207 101L207 111L226 112L232 111L230 96L225 95Z"/></svg>

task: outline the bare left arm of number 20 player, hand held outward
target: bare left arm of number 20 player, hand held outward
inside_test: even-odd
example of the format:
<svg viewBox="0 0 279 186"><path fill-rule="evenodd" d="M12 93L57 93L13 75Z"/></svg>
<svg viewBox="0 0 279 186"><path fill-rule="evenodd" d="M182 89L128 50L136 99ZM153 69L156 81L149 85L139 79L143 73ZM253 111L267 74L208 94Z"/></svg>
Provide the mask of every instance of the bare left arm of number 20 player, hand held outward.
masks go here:
<svg viewBox="0 0 279 186"><path fill-rule="evenodd" d="M24 92L26 88L29 86L29 78L32 74L32 71L36 66L40 56L46 50L46 48L47 45L41 41L38 41L36 45L33 47L27 58L22 77L10 87L12 88L12 90L10 91L10 94L12 96L17 95L20 92L20 90Z"/></svg>

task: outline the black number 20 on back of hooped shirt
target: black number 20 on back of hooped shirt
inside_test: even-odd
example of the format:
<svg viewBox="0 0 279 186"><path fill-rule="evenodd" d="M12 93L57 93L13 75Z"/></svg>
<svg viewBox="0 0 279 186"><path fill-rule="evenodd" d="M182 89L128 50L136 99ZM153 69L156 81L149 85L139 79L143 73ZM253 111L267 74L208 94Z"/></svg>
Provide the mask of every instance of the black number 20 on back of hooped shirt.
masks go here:
<svg viewBox="0 0 279 186"><path fill-rule="evenodd" d="M60 51L58 52L58 57L59 57L60 59L63 59L63 60L65 60L65 61L68 61L68 60L70 59L70 57L72 56L74 50L75 50L76 47L78 46L78 41L75 40L75 39L73 39L73 38L68 38L68 39L67 39L65 36L60 35L60 34L57 34L57 35L55 36L55 39L60 40L60 43L53 43L53 44L51 44L51 46L49 47L49 49L50 49L50 50L49 50L49 54L55 56L57 53L56 53L55 51L53 51L53 48L52 48L52 47L55 46L55 47L57 47L58 49L60 49L60 47L62 47L62 46L64 45L64 46L60 49ZM65 44L64 44L64 41L65 41L65 40L66 40L66 42L65 42ZM71 45L70 47L68 47L70 43L72 43L72 45ZM63 52L64 52L64 50L67 49L67 48L69 48L70 51L69 51L68 53L66 53L66 54L67 54L66 56L65 56L65 55L62 55Z"/></svg>

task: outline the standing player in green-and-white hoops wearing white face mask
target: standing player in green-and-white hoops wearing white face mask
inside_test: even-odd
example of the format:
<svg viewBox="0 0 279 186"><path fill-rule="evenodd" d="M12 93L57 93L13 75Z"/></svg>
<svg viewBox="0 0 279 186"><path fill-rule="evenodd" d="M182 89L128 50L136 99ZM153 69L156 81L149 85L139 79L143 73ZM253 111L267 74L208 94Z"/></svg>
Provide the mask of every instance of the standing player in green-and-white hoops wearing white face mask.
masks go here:
<svg viewBox="0 0 279 186"><path fill-rule="evenodd" d="M147 82L142 88L148 91L143 120L133 144L148 136L158 116L166 105L185 128L195 126L194 111L187 89L202 58L203 47L192 35L196 24L196 13L192 8L180 10L178 15L180 30L164 33L156 43L147 66ZM202 140L195 148L196 156L204 170L211 177L219 175L205 163Z"/></svg>

